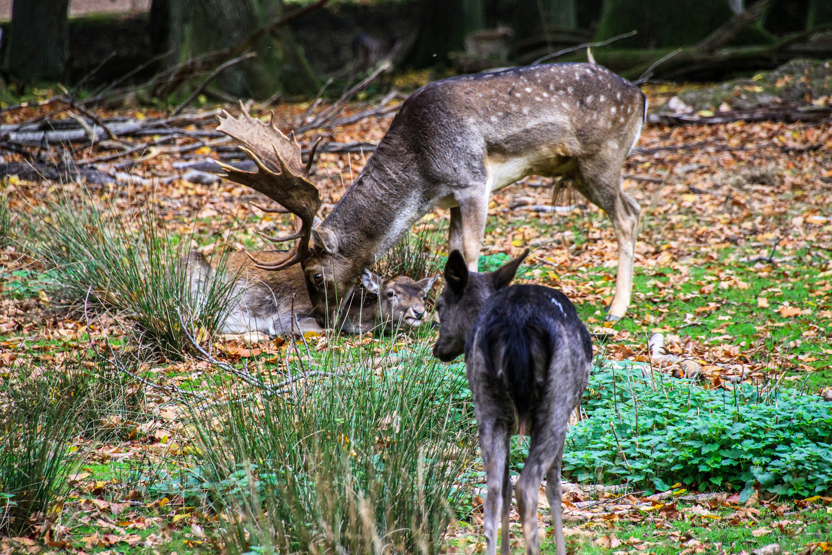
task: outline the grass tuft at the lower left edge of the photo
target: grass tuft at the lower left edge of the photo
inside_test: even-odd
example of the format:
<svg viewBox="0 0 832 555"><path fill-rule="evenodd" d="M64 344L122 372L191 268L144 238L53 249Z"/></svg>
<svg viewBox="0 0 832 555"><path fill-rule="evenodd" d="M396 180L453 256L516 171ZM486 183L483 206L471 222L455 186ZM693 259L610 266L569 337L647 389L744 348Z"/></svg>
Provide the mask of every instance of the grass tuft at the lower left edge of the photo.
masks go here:
<svg viewBox="0 0 832 555"><path fill-rule="evenodd" d="M0 536L26 533L67 491L84 379L74 372L21 368L0 388ZM41 515L42 518L42 515Z"/></svg>

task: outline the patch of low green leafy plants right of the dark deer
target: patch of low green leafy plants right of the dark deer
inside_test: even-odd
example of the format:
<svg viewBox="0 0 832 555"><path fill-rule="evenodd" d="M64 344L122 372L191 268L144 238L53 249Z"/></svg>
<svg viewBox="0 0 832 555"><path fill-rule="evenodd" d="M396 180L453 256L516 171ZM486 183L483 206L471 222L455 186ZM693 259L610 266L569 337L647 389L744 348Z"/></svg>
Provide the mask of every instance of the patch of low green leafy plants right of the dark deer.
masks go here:
<svg viewBox="0 0 832 555"><path fill-rule="evenodd" d="M703 389L644 365L596 369L567 434L579 481L808 497L832 491L832 404L796 390Z"/></svg>

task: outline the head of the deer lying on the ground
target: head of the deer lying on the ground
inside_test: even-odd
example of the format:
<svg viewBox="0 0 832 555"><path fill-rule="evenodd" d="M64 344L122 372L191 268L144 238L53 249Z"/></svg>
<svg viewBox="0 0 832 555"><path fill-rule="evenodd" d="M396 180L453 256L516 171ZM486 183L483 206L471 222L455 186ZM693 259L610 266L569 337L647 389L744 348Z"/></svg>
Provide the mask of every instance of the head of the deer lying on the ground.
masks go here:
<svg viewBox="0 0 832 555"><path fill-rule="evenodd" d="M370 270L364 270L364 287L379 295L380 319L389 325L418 328L424 320L424 301L438 275L414 281L406 275L384 280Z"/></svg>

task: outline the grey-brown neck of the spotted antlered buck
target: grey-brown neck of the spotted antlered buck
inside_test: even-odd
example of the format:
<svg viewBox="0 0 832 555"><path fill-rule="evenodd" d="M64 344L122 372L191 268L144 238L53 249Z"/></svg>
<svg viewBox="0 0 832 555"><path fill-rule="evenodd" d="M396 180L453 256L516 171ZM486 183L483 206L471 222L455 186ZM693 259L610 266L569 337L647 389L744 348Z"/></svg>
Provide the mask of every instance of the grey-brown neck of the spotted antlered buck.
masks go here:
<svg viewBox="0 0 832 555"><path fill-rule="evenodd" d="M339 255L356 268L373 265L431 208L410 156L387 156L384 144L321 224L338 236ZM399 153L402 151L399 150Z"/></svg>

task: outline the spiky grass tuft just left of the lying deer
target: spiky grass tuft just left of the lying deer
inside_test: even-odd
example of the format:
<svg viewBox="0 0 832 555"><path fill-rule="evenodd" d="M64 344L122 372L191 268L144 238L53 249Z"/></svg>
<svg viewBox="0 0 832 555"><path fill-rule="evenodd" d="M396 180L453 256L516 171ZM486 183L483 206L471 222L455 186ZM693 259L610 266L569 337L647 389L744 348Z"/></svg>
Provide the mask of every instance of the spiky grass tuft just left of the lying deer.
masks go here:
<svg viewBox="0 0 832 555"><path fill-rule="evenodd" d="M52 296L121 312L166 354L190 346L177 308L209 336L225 320L234 295L225 259L210 277L191 279L188 238L176 244L151 208L128 219L88 198L63 200L27 224L27 248L47 265L42 280Z"/></svg>

